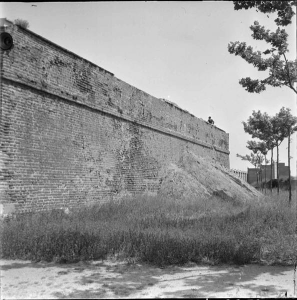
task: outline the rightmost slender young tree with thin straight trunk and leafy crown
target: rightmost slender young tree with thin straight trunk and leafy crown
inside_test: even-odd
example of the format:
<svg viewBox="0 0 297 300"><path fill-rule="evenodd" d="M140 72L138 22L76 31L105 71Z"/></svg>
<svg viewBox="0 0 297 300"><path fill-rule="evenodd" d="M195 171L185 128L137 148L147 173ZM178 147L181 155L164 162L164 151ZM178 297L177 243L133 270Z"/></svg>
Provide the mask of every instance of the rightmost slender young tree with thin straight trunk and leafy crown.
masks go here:
<svg viewBox="0 0 297 300"><path fill-rule="evenodd" d="M289 202L292 200L292 186L291 186L291 168L290 168L290 142L291 134L297 131L297 117L293 116L290 108L285 108L284 106L278 113L278 118L280 120L283 135L288 137L288 168L289 168Z"/></svg>

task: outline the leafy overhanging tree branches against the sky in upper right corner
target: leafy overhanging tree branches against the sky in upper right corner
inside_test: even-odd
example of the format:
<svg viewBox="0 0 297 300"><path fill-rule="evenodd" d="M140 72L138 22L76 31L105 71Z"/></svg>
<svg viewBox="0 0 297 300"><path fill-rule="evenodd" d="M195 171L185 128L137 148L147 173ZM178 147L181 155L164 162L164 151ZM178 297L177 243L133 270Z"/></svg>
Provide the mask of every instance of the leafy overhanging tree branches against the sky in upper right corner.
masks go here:
<svg viewBox="0 0 297 300"><path fill-rule="evenodd" d="M278 25L286 26L292 22L295 14L293 6L296 1L234 1L234 8L248 9L256 7L261 12L278 12L275 22ZM256 40L265 40L271 45L265 51L254 51L252 46L247 46L246 42L230 42L228 51L231 54L239 55L248 63L253 64L259 71L269 70L269 76L263 80L251 79L250 77L240 79L239 83L248 91L260 93L271 86L288 86L297 93L294 84L297 82L297 59L289 60L286 53L288 49L288 34L285 29L277 28L275 32L265 29L258 21L250 26L253 31L252 37ZM263 56L265 55L265 56ZM269 55L269 56L266 56Z"/></svg>

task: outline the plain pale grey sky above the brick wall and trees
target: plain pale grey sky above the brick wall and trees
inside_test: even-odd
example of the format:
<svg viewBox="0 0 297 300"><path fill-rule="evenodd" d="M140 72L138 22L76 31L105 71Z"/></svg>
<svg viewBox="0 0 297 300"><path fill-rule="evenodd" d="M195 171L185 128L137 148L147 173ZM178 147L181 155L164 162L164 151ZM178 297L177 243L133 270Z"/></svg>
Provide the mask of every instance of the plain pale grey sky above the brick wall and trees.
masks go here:
<svg viewBox="0 0 297 300"><path fill-rule="evenodd" d="M296 11L296 9L295 9ZM268 48L254 40L249 26L258 20L275 31L276 15L256 9L234 10L232 1L0 2L0 16L29 22L28 29L92 61L143 91L176 103L197 117L212 116L229 133L230 167L253 167L236 156L251 151L252 137L242 121L253 110L275 115L282 106L297 113L296 93L289 87L267 87L249 93L242 77L263 79L239 56L230 41L246 41L255 50ZM288 59L296 53L296 15L289 33ZM297 173L296 134L291 144L291 173ZM288 164L288 139L280 162Z"/></svg>

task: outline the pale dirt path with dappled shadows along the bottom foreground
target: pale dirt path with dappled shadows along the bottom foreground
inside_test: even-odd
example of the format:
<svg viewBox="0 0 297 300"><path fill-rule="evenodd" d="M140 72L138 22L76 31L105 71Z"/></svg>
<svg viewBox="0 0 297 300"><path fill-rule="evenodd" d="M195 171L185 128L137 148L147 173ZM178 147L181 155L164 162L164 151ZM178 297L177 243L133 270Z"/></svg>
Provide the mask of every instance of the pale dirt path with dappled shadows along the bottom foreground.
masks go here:
<svg viewBox="0 0 297 300"><path fill-rule="evenodd" d="M293 266L188 265L165 268L111 260L71 264L1 260L1 299L285 297Z"/></svg>

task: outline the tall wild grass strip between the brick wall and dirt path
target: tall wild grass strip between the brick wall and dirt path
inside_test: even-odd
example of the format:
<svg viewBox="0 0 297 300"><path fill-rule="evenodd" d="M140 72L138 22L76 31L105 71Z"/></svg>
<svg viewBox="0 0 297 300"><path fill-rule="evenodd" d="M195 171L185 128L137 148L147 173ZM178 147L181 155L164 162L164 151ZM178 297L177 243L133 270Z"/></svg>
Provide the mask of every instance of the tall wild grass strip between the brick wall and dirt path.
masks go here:
<svg viewBox="0 0 297 300"><path fill-rule="evenodd" d="M143 196L1 220L1 258L70 262L116 256L158 265L296 262L296 200ZM293 196L296 199L296 195Z"/></svg>

